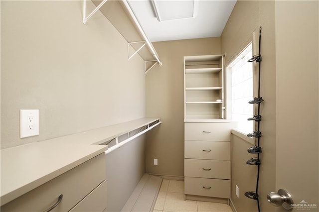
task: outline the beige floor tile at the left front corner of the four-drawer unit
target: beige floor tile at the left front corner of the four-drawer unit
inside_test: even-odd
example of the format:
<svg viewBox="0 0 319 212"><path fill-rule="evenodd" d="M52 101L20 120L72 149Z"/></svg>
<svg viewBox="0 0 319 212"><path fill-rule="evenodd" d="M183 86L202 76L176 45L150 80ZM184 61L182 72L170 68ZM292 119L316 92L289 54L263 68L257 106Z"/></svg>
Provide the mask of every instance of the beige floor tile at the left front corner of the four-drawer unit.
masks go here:
<svg viewBox="0 0 319 212"><path fill-rule="evenodd" d="M184 194L167 192L163 211L197 212L197 204L196 201L184 201Z"/></svg>

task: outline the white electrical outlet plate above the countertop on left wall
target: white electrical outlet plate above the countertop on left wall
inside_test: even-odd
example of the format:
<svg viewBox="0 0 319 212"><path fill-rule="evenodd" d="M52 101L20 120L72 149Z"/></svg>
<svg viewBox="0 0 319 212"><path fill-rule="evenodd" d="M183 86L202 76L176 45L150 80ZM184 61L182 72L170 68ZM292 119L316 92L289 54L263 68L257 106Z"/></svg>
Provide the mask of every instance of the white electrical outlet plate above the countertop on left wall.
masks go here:
<svg viewBox="0 0 319 212"><path fill-rule="evenodd" d="M39 134L39 110L20 109L20 138Z"/></svg>

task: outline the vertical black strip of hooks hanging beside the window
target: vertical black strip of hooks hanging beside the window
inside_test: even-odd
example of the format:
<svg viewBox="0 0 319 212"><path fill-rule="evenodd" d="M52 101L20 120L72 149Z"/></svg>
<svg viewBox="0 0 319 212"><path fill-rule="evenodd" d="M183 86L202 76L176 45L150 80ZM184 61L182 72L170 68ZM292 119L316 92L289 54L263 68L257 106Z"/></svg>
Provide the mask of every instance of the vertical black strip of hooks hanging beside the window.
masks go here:
<svg viewBox="0 0 319 212"><path fill-rule="evenodd" d="M247 198L250 198L252 200L257 200L258 205L258 212L260 212L260 205L259 205L259 195L258 195L258 184L259 184L259 173L260 173L260 157L259 155L262 153L261 147L260 147L260 137L261 137L261 131L260 131L260 121L261 121L261 115L260 115L260 103L264 102L263 98L260 96L260 67L261 67L261 26L259 28L259 53L258 55L254 55L251 59L249 59L247 62L254 62L256 61L258 63L258 97L255 97L253 100L249 101L249 104L257 104L258 106L258 114L253 115L253 117L248 118L247 120L254 120L257 122L257 130L248 133L247 136L249 137L255 137L257 138L257 145L250 147L247 149L247 151L251 154L257 154L257 157L251 158L246 162L248 165L256 165L258 168L257 171L257 182L256 182L256 191L255 192L246 192L245 196Z"/></svg>

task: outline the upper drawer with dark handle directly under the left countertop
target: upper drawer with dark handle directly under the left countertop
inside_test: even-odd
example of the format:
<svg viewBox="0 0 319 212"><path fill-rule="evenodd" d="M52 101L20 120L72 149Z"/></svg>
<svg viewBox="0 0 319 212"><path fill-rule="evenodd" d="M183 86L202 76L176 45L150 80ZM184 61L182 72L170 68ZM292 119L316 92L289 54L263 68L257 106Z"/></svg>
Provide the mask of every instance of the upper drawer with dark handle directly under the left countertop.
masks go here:
<svg viewBox="0 0 319 212"><path fill-rule="evenodd" d="M57 202L60 194L63 199L53 211L69 211L105 180L105 169L102 153L3 205L1 212L43 212Z"/></svg>

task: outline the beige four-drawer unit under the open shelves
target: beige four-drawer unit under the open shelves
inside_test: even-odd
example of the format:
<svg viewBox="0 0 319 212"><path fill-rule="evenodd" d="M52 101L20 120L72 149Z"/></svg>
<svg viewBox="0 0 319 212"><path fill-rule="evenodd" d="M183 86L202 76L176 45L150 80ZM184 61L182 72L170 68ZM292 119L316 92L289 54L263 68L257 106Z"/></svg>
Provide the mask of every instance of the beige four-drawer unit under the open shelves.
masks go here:
<svg viewBox="0 0 319 212"><path fill-rule="evenodd" d="M231 122L185 122L184 190L230 199Z"/></svg>

